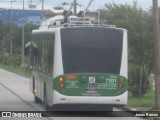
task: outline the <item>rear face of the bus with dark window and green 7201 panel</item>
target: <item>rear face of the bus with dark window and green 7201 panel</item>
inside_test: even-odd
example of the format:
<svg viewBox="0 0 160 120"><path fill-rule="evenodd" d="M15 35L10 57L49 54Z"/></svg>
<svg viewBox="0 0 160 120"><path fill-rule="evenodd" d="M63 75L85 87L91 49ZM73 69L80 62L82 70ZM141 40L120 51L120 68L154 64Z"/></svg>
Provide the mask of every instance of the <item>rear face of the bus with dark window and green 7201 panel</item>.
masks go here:
<svg viewBox="0 0 160 120"><path fill-rule="evenodd" d="M53 108L73 105L71 109L95 111L127 104L125 29L61 28L55 37Z"/></svg>

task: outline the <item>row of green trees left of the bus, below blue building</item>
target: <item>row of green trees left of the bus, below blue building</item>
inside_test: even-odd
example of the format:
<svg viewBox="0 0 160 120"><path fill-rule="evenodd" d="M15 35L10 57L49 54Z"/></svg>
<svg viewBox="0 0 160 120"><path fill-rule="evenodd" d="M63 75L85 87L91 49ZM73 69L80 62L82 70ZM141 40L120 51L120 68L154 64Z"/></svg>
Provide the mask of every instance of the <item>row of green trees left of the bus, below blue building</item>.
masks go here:
<svg viewBox="0 0 160 120"><path fill-rule="evenodd" d="M31 33L33 29L37 29L39 26L34 24L25 25L25 44L31 41ZM3 43L4 41L4 43ZM12 54L10 56L10 43L13 43ZM21 65L21 50L22 50L22 27L17 27L11 24L0 21L0 63L19 67ZM27 58L26 58L27 59ZM26 63L27 64L27 63Z"/></svg>

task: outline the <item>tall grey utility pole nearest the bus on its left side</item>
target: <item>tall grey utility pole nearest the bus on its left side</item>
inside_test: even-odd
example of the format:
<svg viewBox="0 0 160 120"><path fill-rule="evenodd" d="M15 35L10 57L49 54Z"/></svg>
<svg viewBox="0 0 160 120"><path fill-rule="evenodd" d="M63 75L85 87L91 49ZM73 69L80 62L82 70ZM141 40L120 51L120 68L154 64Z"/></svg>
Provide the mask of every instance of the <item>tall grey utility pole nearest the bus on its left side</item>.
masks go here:
<svg viewBox="0 0 160 120"><path fill-rule="evenodd" d="M24 66L24 0L23 0L23 19L22 19L22 55L21 66Z"/></svg>

